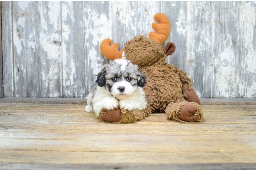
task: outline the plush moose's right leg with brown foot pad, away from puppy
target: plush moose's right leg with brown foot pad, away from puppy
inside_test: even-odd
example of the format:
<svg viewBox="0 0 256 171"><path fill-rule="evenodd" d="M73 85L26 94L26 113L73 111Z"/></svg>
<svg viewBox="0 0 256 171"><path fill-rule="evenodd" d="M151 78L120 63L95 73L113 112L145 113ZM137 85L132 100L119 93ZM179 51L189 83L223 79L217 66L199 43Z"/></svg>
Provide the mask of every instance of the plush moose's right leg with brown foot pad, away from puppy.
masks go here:
<svg viewBox="0 0 256 171"><path fill-rule="evenodd" d="M179 101L170 103L167 105L165 113L168 118L180 122L201 122L204 119L201 106L195 102Z"/></svg>

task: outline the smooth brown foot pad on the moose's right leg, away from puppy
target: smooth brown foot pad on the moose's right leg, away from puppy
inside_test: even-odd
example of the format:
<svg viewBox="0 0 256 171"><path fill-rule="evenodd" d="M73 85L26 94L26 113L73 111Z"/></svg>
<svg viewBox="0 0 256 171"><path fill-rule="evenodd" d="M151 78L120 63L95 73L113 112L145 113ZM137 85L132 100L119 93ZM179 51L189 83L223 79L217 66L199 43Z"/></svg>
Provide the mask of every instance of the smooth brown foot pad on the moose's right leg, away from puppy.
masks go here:
<svg viewBox="0 0 256 171"><path fill-rule="evenodd" d="M193 104L184 105L180 108L180 113L177 114L177 117L184 121L197 121L199 116L195 115L197 107Z"/></svg>

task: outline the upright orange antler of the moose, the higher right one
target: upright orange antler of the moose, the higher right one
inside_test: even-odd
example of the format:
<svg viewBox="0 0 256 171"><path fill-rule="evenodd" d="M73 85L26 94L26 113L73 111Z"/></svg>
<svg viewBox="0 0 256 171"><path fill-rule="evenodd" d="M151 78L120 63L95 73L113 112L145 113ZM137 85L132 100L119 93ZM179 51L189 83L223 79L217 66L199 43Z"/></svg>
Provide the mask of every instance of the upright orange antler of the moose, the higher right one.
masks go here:
<svg viewBox="0 0 256 171"><path fill-rule="evenodd" d="M167 40L171 32L170 20L166 15L162 13L154 15L154 19L159 23L152 23L152 27L157 33L151 31L149 33L149 37L156 42L163 44Z"/></svg>

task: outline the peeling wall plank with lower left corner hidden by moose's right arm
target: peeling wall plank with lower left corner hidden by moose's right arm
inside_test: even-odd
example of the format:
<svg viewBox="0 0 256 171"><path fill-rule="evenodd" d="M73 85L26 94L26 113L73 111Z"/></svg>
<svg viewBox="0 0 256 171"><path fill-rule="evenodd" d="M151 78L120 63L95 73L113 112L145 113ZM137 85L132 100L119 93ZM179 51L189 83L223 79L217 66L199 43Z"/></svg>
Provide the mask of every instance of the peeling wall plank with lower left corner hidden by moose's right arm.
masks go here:
<svg viewBox="0 0 256 171"><path fill-rule="evenodd" d="M199 97L211 97L212 1L187 1L187 68Z"/></svg>

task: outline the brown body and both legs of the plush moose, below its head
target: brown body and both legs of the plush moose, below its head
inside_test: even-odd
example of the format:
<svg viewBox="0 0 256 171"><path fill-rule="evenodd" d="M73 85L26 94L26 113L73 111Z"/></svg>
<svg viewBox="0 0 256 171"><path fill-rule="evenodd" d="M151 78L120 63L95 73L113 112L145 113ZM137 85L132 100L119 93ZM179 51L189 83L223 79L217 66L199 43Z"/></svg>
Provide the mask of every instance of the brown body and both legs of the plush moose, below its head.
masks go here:
<svg viewBox="0 0 256 171"><path fill-rule="evenodd" d="M179 122L201 122L203 120L201 106L195 102L188 102L183 97L184 90L186 90L185 94L192 92L193 95L196 95L190 78L187 77L185 71L165 63L164 60L160 60L151 66L141 67L140 70L147 76L147 83L143 88L148 102L147 109L131 111L119 109L115 113L113 113L114 110L113 112L107 111L110 112L110 115L106 111L101 111L98 117L99 120L131 123L143 120L151 112L156 111L165 112L169 119Z"/></svg>

